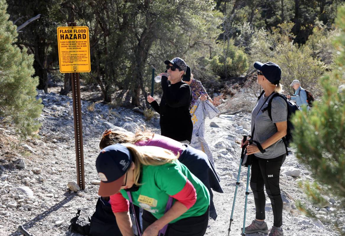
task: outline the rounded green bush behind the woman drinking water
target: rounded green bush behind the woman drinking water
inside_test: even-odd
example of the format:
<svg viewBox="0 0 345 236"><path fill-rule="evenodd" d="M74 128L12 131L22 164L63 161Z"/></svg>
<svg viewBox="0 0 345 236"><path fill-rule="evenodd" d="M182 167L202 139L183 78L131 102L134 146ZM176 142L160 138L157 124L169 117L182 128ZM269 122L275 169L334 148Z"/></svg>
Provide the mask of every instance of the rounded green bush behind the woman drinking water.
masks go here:
<svg viewBox="0 0 345 236"><path fill-rule="evenodd" d="M247 55L234 45L233 40L229 43L220 43L224 47L225 55L215 55L210 61L210 67L221 78L234 77L243 74L248 69Z"/></svg>

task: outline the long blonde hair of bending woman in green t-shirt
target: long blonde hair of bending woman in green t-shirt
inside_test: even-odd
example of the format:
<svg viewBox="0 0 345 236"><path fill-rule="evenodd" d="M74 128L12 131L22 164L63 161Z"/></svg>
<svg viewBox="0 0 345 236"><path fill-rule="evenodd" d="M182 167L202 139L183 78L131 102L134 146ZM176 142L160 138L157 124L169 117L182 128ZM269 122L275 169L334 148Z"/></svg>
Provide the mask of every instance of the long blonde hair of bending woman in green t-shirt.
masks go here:
<svg viewBox="0 0 345 236"><path fill-rule="evenodd" d="M135 146L131 143L122 143L132 154L134 168L134 184L140 185L139 178L142 165L164 165L177 160L176 156L169 150L154 146Z"/></svg>

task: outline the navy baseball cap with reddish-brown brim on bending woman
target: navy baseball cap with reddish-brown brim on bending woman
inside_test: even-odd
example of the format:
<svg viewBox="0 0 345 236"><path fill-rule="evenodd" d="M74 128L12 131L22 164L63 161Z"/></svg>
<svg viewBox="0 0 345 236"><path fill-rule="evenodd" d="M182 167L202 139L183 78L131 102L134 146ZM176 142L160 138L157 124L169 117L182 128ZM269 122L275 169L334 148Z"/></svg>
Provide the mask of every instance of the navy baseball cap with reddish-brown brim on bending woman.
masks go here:
<svg viewBox="0 0 345 236"><path fill-rule="evenodd" d="M101 179L98 195L107 197L120 191L131 163L132 155L125 146L118 143L103 148L96 159L96 169Z"/></svg>

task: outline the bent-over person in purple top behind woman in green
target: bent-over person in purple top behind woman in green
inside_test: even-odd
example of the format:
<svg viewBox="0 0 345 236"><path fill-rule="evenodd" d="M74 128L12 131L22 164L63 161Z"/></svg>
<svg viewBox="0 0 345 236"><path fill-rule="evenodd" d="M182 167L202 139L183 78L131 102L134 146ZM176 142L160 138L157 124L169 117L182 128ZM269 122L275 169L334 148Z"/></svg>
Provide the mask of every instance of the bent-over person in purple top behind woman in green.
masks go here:
<svg viewBox="0 0 345 236"><path fill-rule="evenodd" d="M210 193L210 217L217 218L216 209L213 203L213 192L211 188L223 193L219 184L220 178L206 154L200 150L190 147L188 144L180 143L165 136L157 135L148 131L122 132L119 130L106 130L99 142L101 149L116 143L132 143L137 146L155 146L165 148L178 155L178 160L184 164L201 182L205 184Z"/></svg>

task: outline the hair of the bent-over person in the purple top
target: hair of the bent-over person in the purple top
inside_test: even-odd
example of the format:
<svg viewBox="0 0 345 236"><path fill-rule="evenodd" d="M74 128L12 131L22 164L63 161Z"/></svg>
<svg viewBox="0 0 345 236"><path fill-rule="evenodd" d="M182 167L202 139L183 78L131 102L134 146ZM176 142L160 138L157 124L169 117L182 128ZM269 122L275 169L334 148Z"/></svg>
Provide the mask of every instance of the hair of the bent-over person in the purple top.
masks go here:
<svg viewBox="0 0 345 236"><path fill-rule="evenodd" d="M154 133L150 131L142 131L137 130L135 134L131 132L124 132L124 131L109 131L105 135L103 135L101 141L99 142L100 149L108 147L112 144L116 143L136 143L138 141L146 141L148 139L152 139Z"/></svg>

